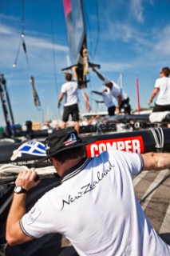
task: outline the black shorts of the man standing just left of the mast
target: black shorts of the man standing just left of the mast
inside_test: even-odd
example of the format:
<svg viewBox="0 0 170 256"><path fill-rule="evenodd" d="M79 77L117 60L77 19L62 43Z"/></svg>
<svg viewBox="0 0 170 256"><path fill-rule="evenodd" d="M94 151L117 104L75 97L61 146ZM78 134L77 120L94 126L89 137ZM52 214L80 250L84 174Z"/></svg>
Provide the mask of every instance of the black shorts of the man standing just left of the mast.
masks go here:
<svg viewBox="0 0 170 256"><path fill-rule="evenodd" d="M70 106L64 106L64 113L62 116L62 121L67 122L69 120L69 114L72 116L73 122L79 121L79 110L78 104L73 104Z"/></svg>

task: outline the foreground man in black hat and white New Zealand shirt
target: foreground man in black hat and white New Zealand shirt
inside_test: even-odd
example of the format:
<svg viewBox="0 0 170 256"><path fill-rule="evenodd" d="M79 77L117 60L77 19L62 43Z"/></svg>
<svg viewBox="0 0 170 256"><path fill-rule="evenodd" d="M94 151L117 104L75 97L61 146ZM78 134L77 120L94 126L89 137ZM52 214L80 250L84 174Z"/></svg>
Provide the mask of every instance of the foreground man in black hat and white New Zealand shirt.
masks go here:
<svg viewBox="0 0 170 256"><path fill-rule="evenodd" d="M87 158L73 129L57 130L46 139L46 154L61 177L26 213L26 191L38 184L34 171L18 174L7 218L6 240L10 245L60 233L77 253L93 256L169 255L137 202L132 174L170 166L170 154L132 154L108 150Z"/></svg>

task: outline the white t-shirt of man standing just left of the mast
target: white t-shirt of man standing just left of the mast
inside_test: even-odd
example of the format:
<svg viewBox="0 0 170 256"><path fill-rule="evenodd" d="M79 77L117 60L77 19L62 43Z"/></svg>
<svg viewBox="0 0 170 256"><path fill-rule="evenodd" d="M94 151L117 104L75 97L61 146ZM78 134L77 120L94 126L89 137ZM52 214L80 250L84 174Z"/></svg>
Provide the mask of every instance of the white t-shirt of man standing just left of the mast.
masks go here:
<svg viewBox="0 0 170 256"><path fill-rule="evenodd" d="M61 93L65 94L64 106L71 106L78 102L78 85L76 81L65 82L61 86Z"/></svg>

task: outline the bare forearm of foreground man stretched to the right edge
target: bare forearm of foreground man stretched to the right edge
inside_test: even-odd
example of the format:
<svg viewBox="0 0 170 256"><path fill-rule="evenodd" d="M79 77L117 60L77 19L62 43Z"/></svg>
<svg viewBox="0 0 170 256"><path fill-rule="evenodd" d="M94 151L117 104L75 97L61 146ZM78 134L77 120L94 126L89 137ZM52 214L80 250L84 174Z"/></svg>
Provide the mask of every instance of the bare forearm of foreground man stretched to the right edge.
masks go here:
<svg viewBox="0 0 170 256"><path fill-rule="evenodd" d="M143 170L164 170L170 168L170 153L141 154L144 160Z"/></svg>

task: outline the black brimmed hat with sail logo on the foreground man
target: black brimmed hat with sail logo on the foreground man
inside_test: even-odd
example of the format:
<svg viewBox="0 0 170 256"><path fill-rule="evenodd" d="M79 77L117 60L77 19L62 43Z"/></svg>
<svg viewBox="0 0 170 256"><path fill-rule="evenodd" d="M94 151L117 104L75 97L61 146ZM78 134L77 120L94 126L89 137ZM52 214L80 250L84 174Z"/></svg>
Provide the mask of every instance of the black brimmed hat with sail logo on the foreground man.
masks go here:
<svg viewBox="0 0 170 256"><path fill-rule="evenodd" d="M45 139L46 156L38 162L43 162L62 151L71 150L79 146L85 146L96 141L97 138L88 138L88 140L87 138L80 138L77 134L77 130L72 127L55 130Z"/></svg>

